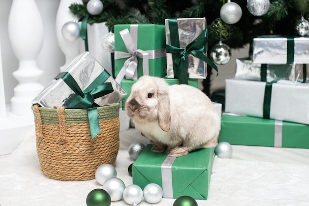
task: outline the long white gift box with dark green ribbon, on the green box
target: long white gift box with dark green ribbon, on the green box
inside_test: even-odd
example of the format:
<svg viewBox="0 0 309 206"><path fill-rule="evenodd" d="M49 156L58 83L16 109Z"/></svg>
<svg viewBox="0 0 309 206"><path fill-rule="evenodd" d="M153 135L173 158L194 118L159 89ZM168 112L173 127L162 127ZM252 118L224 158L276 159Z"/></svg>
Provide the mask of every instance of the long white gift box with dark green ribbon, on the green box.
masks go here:
<svg viewBox="0 0 309 206"><path fill-rule="evenodd" d="M226 80L225 112L309 124L309 83Z"/></svg>

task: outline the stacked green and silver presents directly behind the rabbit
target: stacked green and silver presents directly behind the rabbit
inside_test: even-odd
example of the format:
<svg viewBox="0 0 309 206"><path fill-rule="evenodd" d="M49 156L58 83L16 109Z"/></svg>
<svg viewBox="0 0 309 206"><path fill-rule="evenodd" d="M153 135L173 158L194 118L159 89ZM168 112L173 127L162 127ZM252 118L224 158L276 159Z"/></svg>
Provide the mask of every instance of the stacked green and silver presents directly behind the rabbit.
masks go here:
<svg viewBox="0 0 309 206"><path fill-rule="evenodd" d="M207 76L207 64L217 69L206 56L205 18L166 19L165 25L125 24L114 28L116 82L128 93L122 100L123 110L132 84L143 75L165 78L170 85L198 87L197 80Z"/></svg>

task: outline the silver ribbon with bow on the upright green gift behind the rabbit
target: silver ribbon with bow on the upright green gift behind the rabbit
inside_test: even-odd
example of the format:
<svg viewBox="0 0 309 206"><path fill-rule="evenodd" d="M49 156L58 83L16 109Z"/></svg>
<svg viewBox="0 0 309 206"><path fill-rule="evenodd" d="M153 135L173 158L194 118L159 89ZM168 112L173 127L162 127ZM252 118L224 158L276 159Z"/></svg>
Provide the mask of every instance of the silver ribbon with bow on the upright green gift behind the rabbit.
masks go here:
<svg viewBox="0 0 309 206"><path fill-rule="evenodd" d="M115 79L117 83L120 83L124 76L127 80L137 80L137 57L143 58L143 75L149 75L149 59L166 55L165 48L147 51L137 49L137 29L138 24L131 24L131 33L128 29L119 32L128 52L115 51L115 59L128 59L125 60Z"/></svg>

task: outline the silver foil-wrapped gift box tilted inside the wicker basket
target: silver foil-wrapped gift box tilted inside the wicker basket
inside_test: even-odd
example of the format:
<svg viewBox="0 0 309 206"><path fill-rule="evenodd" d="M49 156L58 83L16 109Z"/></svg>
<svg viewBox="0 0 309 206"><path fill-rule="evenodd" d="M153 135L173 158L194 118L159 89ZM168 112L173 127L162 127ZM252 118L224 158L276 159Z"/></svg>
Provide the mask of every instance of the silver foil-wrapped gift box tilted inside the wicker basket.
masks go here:
<svg viewBox="0 0 309 206"><path fill-rule="evenodd" d="M83 52L68 64L62 72L69 72L83 91L104 70L90 52ZM99 106L118 103L127 94L113 77L110 76L106 82L112 83L114 91L95 99L95 103ZM66 100L74 94L74 91L62 79L53 79L32 101L32 104L50 108L67 106L69 102Z"/></svg>

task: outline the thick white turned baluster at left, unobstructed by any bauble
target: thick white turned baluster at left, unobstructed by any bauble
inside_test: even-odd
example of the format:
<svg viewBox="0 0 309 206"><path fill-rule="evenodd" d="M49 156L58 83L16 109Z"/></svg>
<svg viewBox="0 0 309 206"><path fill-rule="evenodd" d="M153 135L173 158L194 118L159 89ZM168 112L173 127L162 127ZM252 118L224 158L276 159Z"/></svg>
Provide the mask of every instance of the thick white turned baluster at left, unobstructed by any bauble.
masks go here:
<svg viewBox="0 0 309 206"><path fill-rule="evenodd" d="M13 76L19 82L11 98L11 112L31 114L31 101L43 89L36 59L43 43L43 24L35 0L13 0L8 18L8 37L19 60Z"/></svg>

